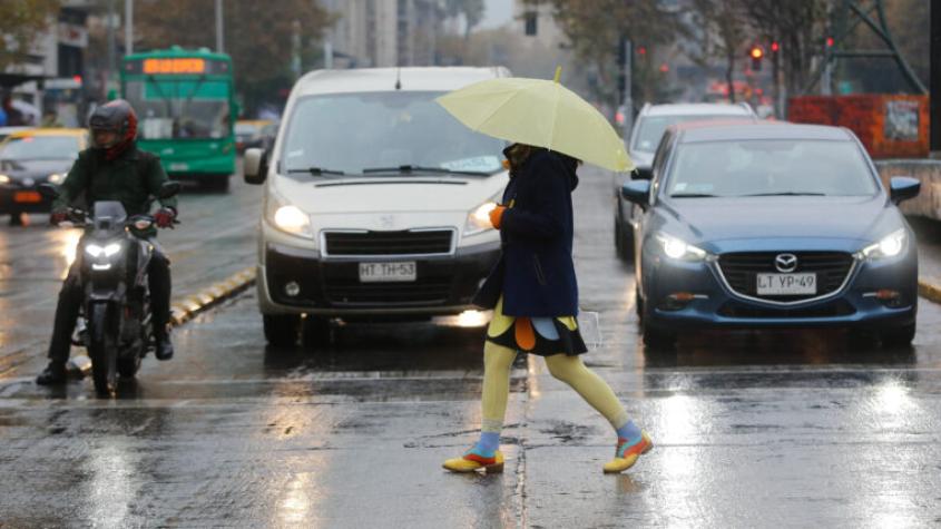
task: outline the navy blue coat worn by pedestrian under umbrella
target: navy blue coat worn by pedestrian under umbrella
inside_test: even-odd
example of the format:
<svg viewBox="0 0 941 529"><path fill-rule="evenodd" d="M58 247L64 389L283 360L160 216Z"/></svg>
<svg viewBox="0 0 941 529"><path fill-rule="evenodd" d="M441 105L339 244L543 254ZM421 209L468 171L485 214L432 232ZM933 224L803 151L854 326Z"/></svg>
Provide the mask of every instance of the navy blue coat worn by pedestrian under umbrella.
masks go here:
<svg viewBox="0 0 941 529"><path fill-rule="evenodd" d="M571 192L575 159L538 149L513 170L502 204L500 261L473 303L493 308L503 294L503 314L553 317L578 314L578 283L571 259Z"/></svg>

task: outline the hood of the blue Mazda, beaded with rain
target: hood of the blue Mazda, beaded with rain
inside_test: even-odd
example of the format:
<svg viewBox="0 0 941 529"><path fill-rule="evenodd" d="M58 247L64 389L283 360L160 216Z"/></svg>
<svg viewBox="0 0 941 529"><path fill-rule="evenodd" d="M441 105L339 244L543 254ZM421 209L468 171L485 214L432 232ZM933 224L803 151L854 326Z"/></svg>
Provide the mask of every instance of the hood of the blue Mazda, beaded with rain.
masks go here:
<svg viewBox="0 0 941 529"><path fill-rule="evenodd" d="M870 243L903 225L895 207L875 197L674 198L665 204L666 231L679 231L713 252L775 246L775 241L842 239ZM670 229L675 227L676 229ZM884 233L883 233L884 232ZM747 242L747 244L745 243ZM803 243L802 243L803 244ZM807 247L810 249L810 246Z"/></svg>

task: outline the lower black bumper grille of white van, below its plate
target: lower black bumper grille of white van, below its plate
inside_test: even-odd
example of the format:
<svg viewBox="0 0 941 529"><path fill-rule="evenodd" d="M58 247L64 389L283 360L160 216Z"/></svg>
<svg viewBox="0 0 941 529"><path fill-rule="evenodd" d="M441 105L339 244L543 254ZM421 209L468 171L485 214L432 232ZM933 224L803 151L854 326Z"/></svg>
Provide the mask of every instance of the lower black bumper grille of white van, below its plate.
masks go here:
<svg viewBox="0 0 941 529"><path fill-rule="evenodd" d="M331 278L325 282L324 290L326 297L337 305L433 305L448 301L451 281L430 277L411 283L360 283Z"/></svg>

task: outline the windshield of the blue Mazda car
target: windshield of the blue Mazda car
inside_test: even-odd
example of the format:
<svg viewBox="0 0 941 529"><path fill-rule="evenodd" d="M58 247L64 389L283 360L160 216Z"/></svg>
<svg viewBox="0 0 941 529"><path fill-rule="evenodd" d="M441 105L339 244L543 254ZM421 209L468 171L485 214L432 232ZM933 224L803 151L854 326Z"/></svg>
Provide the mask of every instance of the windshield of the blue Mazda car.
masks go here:
<svg viewBox="0 0 941 529"><path fill-rule="evenodd" d="M682 144L672 197L872 196L875 179L852 141L736 140Z"/></svg>

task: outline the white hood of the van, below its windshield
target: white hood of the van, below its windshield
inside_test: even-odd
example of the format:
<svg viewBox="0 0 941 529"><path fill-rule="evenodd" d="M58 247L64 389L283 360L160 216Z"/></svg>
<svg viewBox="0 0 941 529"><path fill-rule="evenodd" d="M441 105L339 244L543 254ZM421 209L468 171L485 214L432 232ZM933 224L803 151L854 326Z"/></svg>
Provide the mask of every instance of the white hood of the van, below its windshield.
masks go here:
<svg viewBox="0 0 941 529"><path fill-rule="evenodd" d="M314 215L469 212L499 195L508 182L506 173L470 178L394 176L316 182L280 177L275 193Z"/></svg>

